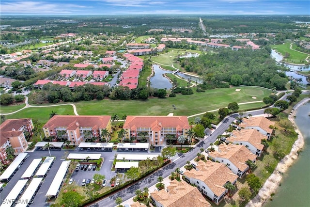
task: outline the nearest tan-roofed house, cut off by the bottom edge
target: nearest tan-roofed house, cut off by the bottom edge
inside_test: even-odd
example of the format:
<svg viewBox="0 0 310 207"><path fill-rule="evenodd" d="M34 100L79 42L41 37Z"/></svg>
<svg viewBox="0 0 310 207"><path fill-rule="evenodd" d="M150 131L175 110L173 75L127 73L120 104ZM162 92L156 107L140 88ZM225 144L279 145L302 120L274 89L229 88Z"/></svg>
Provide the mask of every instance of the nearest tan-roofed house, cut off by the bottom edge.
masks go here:
<svg viewBox="0 0 310 207"><path fill-rule="evenodd" d="M151 192L150 198L155 207L211 207L198 189L185 181L173 180L167 191Z"/></svg>

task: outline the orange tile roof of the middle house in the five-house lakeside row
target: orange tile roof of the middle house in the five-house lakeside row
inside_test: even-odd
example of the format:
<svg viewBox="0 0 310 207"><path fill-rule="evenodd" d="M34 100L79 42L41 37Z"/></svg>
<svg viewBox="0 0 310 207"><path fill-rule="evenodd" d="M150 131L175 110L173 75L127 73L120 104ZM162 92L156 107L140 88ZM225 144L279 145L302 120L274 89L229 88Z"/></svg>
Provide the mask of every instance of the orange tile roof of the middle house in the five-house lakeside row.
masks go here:
<svg viewBox="0 0 310 207"><path fill-rule="evenodd" d="M251 153L247 147L244 145L237 144L220 144L218 146L218 151L210 152L209 156L212 158L225 158L229 159L239 170L244 171L248 168L246 161L255 160L256 155Z"/></svg>

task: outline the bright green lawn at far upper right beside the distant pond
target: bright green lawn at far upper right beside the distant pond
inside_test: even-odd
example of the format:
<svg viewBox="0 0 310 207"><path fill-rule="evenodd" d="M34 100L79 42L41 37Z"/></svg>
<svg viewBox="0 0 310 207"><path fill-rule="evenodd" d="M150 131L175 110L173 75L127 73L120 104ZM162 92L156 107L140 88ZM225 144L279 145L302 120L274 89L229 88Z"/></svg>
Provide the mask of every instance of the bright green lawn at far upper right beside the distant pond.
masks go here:
<svg viewBox="0 0 310 207"><path fill-rule="evenodd" d="M288 63L294 63L294 64L304 64L304 63L307 63L305 59L309 55L301 53L301 52L298 52L298 51L294 51L294 50L292 50L290 48L290 46L291 46L291 43L290 42L286 42L285 44L282 44L282 45L271 45L271 48L277 50L283 56L286 53L289 53L290 56L285 59L285 61L288 62ZM296 46L293 44L292 48L295 49L295 47Z"/></svg>

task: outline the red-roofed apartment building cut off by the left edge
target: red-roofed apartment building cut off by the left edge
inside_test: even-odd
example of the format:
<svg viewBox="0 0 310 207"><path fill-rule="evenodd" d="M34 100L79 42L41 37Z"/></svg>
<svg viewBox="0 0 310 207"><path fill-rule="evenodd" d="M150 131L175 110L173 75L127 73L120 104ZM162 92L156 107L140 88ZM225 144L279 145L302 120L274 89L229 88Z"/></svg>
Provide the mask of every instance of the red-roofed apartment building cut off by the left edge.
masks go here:
<svg viewBox="0 0 310 207"><path fill-rule="evenodd" d="M7 119L0 125L0 159L3 164L9 162L5 152L7 147L12 146L16 153L28 147L26 137L32 134L32 129L31 119Z"/></svg>

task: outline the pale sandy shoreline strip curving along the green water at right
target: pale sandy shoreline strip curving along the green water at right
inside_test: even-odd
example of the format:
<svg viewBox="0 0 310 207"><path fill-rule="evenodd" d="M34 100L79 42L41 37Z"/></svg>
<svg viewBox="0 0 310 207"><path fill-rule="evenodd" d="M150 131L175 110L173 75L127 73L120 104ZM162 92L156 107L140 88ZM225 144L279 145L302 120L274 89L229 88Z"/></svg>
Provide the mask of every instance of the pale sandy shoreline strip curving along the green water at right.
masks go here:
<svg viewBox="0 0 310 207"><path fill-rule="evenodd" d="M271 197L271 193L274 193L282 180L283 173L285 173L293 164L295 159L298 158L298 151L304 147L305 141L298 127L296 127L294 116L296 115L296 111L298 107L303 105L304 103L310 101L310 98L304 98L299 103L297 103L291 113L288 116L288 119L295 126L295 131L298 133L298 139L292 146L292 150L290 154L286 155L283 159L281 159L274 170L274 172L268 177L266 182L263 184L263 187L258 192L258 194L248 202L246 207L261 207L264 203L266 203Z"/></svg>

